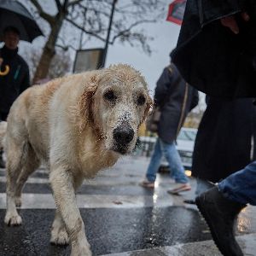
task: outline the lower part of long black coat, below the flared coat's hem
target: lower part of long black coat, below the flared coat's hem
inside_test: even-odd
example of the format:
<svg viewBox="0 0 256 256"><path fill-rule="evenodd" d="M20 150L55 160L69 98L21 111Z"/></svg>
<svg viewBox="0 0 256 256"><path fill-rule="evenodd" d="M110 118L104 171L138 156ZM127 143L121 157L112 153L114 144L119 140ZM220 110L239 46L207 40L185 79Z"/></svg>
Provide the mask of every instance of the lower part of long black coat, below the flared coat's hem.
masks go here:
<svg viewBox="0 0 256 256"><path fill-rule="evenodd" d="M195 139L192 175L216 183L247 166L255 124L252 99L210 97Z"/></svg>

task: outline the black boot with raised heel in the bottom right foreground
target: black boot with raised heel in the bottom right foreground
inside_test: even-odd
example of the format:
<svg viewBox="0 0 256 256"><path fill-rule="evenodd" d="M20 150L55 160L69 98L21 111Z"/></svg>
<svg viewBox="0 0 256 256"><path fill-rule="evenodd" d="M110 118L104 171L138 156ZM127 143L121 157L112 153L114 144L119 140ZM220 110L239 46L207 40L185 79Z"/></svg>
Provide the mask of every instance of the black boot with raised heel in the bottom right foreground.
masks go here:
<svg viewBox="0 0 256 256"><path fill-rule="evenodd" d="M217 187L196 197L195 204L206 219L219 251L224 256L242 256L235 238L234 223L246 205L224 198Z"/></svg>

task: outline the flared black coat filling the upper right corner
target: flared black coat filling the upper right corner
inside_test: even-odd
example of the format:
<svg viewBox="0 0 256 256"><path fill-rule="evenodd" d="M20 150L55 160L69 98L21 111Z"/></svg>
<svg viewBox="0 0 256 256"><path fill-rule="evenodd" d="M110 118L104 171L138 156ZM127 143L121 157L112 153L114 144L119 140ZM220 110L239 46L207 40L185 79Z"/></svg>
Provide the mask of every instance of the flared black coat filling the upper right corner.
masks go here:
<svg viewBox="0 0 256 256"><path fill-rule="evenodd" d="M250 20L241 20L246 10ZM236 15L238 35L220 23ZM183 78L209 96L256 96L256 1L189 0L172 61Z"/></svg>

